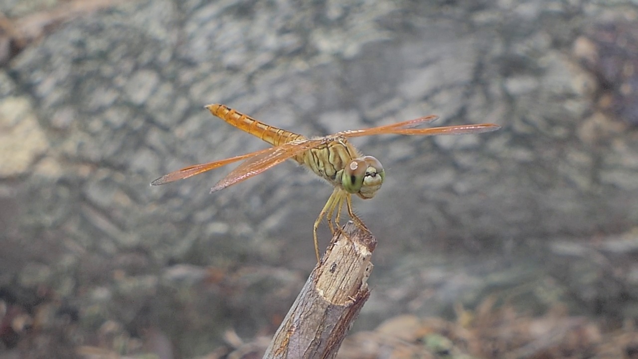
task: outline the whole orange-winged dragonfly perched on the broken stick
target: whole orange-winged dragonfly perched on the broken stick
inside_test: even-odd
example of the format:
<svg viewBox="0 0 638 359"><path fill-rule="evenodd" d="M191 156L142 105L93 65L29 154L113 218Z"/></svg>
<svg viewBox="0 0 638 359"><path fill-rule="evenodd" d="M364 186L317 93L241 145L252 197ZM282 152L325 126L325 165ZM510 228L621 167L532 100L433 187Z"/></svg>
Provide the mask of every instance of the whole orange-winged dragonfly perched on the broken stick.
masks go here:
<svg viewBox="0 0 638 359"><path fill-rule="evenodd" d="M226 105L213 104L207 105L205 108L211 111L214 116L223 119L240 130L259 137L271 144L272 147L224 160L184 167L161 176L152 181L151 185L164 185L243 160L242 164L230 171L211 188L211 193L213 193L261 174L292 158L298 164L308 167L334 187L332 194L313 225L315 255L318 262L320 261L320 256L317 229L323 218L327 218L330 231L334 235L339 229L341 210L345 204L348 215L357 227L369 232L364 222L353 211L352 195L357 195L361 199L371 199L375 197L385 179L385 171L383 171L381 162L375 157L362 155L358 149L348 142L348 139L384 134L421 136L481 134L500 128L500 126L493 123L420 128L420 126L438 118L438 116L431 115L391 125L364 130L346 130L323 137L308 138L275 126L266 125ZM332 218L334 218L334 225L332 224Z"/></svg>

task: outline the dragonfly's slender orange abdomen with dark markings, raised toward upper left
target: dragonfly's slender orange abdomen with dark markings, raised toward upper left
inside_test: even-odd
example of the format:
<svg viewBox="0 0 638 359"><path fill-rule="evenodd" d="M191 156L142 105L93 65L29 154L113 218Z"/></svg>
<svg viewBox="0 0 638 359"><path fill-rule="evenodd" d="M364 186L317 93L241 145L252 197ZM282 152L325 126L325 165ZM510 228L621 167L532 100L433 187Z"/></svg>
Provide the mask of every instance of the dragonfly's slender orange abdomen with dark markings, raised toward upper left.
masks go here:
<svg viewBox="0 0 638 359"><path fill-rule="evenodd" d="M265 123L251 118L248 115L242 114L241 112L237 112L226 105L214 104L208 105L206 108L218 118L230 123L230 125L259 137L263 141L272 144L272 146L279 146L286 142L306 138L302 135L277 128L275 126L266 125Z"/></svg>

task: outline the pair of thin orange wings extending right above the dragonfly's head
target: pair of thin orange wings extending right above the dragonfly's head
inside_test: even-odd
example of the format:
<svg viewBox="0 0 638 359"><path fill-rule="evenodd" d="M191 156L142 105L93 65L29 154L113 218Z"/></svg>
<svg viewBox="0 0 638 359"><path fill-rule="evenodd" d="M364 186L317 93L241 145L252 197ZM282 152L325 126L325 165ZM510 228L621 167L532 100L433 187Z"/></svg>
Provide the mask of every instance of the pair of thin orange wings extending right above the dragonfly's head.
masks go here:
<svg viewBox="0 0 638 359"><path fill-rule="evenodd" d="M494 125L493 123L480 123L477 125L454 125L444 127L431 127L431 128L413 128L425 123L429 123L438 119L438 116L425 116L417 119L410 119L399 123L392 123L391 125L378 126L373 128L366 128L365 130L349 130L339 132L338 135L345 137L361 137L369 135L383 135L383 134L397 134L397 135L464 135L464 134L481 134L483 132L491 132L498 130L501 126Z"/></svg>

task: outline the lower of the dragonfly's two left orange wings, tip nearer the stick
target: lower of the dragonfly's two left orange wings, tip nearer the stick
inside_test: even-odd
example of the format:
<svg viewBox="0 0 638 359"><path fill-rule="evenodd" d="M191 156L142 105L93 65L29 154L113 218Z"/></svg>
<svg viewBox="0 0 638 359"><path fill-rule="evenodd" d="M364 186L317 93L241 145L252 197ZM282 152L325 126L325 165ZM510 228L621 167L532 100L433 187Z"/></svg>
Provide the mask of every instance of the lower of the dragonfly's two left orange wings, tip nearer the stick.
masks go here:
<svg viewBox="0 0 638 359"><path fill-rule="evenodd" d="M267 169L281 164L281 162L284 162L288 158L295 157L304 151L320 146L322 143L323 139L303 139L269 148L269 151L264 151L255 157L248 158L248 160L237 166L233 171L230 171L225 178L222 178L211 188L211 193L223 190L235 183L256 176Z"/></svg>

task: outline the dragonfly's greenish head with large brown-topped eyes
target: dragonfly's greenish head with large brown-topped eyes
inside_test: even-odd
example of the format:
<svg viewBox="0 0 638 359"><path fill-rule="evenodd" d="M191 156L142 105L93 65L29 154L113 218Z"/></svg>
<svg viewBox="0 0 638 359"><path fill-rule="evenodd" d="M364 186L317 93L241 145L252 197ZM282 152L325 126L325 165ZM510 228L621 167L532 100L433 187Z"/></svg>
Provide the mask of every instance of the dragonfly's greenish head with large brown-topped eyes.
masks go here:
<svg viewBox="0 0 638 359"><path fill-rule="evenodd" d="M375 197L381 188L385 172L381 162L372 156L355 158L346 165L341 177L343 188L362 199Z"/></svg>

